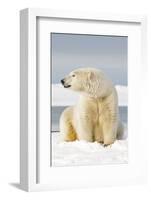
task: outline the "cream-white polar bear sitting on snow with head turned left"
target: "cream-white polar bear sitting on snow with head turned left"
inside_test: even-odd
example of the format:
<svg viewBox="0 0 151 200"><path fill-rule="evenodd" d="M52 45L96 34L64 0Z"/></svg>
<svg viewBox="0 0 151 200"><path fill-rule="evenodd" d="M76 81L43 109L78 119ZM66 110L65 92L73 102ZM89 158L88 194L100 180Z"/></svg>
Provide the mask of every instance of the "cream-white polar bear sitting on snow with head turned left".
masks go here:
<svg viewBox="0 0 151 200"><path fill-rule="evenodd" d="M79 68L61 80L64 88L79 92L75 106L60 117L63 141L97 141L104 146L123 133L119 119L117 92L111 80L99 69Z"/></svg>

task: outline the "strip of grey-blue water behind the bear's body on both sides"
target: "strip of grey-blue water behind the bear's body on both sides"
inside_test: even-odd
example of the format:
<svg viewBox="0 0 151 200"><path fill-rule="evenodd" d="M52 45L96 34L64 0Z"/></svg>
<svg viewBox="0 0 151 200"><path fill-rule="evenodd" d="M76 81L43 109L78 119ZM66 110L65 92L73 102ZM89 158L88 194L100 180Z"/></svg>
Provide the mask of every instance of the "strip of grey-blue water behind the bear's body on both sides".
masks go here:
<svg viewBox="0 0 151 200"><path fill-rule="evenodd" d="M59 119L60 115L63 112L63 110L66 108L66 106L53 106L52 107L52 132L59 131ZM122 120L123 123L127 124L127 106L120 106L119 107L119 113L120 113L120 119Z"/></svg>

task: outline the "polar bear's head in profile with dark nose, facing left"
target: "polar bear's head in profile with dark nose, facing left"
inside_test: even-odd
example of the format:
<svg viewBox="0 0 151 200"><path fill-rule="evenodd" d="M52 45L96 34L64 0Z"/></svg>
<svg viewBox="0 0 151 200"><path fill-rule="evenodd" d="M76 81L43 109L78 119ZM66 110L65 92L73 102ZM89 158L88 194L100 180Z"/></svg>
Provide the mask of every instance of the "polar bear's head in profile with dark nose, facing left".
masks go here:
<svg viewBox="0 0 151 200"><path fill-rule="evenodd" d="M96 68L79 68L61 80L65 88L79 91L92 97L105 97L113 89L112 82Z"/></svg>

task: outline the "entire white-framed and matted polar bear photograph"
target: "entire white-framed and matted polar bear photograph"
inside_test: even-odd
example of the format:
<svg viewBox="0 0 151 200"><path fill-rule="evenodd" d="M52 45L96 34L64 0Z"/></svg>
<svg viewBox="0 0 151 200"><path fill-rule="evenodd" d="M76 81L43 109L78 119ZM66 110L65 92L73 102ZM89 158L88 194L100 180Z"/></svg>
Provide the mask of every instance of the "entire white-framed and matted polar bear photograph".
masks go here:
<svg viewBox="0 0 151 200"><path fill-rule="evenodd" d="M145 183L146 17L24 9L20 44L21 188Z"/></svg>

